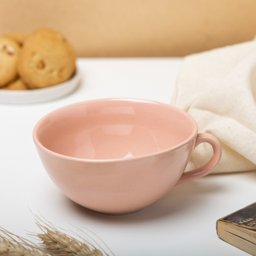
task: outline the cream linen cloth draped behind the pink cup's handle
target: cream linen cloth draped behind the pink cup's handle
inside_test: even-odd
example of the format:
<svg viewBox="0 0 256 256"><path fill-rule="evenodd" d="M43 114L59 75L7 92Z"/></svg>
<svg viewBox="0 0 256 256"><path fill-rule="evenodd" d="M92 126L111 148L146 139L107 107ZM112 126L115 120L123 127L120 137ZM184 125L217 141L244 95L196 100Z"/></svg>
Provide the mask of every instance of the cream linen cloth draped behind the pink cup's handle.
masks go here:
<svg viewBox="0 0 256 256"><path fill-rule="evenodd" d="M214 135L222 158L212 173L256 170L256 41L189 55L171 104L187 111L198 132ZM208 143L193 152L189 170L212 155Z"/></svg>

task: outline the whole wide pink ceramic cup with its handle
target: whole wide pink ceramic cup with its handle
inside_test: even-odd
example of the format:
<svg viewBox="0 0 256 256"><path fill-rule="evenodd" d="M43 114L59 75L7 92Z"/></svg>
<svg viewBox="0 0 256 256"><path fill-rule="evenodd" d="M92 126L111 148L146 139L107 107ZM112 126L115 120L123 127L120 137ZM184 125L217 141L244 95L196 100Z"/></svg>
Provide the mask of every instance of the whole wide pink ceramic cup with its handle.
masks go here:
<svg viewBox="0 0 256 256"><path fill-rule="evenodd" d="M74 202L106 214L128 214L156 202L173 186L203 177L219 163L221 147L197 134L195 120L165 103L100 99L62 107L35 126L36 148L55 185ZM213 156L184 170L202 142Z"/></svg>

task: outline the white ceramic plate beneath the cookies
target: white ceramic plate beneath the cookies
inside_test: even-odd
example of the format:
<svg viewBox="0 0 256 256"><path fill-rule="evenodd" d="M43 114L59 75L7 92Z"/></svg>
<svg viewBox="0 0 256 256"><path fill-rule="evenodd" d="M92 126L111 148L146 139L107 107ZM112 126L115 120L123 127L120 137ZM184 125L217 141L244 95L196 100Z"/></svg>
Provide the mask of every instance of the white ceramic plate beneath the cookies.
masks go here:
<svg viewBox="0 0 256 256"><path fill-rule="evenodd" d="M79 70L68 81L42 89L33 90L4 90L0 89L1 103L36 103L57 99L69 94L79 84Z"/></svg>

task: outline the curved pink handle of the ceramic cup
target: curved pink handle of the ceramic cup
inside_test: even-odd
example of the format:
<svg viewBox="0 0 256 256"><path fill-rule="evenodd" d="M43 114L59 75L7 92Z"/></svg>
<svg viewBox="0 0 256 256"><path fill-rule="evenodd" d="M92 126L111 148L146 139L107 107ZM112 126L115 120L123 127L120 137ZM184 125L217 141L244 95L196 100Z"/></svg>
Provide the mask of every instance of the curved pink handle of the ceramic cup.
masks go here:
<svg viewBox="0 0 256 256"><path fill-rule="evenodd" d="M201 178L201 177L209 174L220 162L220 158L221 158L220 142L213 135L211 135L209 133L198 133L197 137L196 137L194 149L202 142L207 142L212 146L212 148L213 148L212 158L210 159L210 161L208 163L206 163L205 165L203 165L193 171L183 172L183 174L181 175L181 177L178 180L178 182L176 183L176 185L179 185L186 181Z"/></svg>

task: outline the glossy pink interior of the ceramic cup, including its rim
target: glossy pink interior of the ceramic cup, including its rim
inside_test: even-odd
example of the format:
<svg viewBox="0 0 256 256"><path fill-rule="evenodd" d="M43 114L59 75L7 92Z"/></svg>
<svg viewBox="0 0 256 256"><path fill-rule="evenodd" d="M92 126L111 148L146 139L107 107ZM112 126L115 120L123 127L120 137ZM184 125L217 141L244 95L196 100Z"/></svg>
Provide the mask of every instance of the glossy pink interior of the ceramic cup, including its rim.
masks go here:
<svg viewBox="0 0 256 256"><path fill-rule="evenodd" d="M76 103L39 121L39 147L82 159L122 159L169 149L194 138L195 120L165 103L106 99Z"/></svg>

